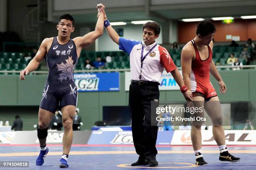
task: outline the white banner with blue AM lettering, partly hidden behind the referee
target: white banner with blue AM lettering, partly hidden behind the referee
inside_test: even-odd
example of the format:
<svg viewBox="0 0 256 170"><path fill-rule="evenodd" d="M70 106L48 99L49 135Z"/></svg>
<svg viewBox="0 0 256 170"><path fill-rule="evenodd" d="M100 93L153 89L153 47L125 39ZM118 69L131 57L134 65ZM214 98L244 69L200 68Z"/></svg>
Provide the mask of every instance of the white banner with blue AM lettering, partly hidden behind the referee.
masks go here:
<svg viewBox="0 0 256 170"><path fill-rule="evenodd" d="M182 75L182 71L179 70ZM159 90L179 90L179 85L172 77L172 74L167 73L165 70L159 81ZM125 91L129 91L129 86L131 84L131 72L125 72Z"/></svg>

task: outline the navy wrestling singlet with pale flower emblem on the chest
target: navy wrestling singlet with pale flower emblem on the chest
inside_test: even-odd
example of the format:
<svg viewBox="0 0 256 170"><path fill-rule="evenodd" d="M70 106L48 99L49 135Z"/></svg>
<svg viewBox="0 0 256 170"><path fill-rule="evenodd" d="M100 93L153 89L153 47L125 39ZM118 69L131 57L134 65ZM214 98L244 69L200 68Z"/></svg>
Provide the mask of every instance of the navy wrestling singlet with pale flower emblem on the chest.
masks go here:
<svg viewBox="0 0 256 170"><path fill-rule="evenodd" d="M76 45L72 39L61 45L54 37L45 57L49 69L40 108L55 112L58 106L77 106L77 87L74 69L78 62Z"/></svg>

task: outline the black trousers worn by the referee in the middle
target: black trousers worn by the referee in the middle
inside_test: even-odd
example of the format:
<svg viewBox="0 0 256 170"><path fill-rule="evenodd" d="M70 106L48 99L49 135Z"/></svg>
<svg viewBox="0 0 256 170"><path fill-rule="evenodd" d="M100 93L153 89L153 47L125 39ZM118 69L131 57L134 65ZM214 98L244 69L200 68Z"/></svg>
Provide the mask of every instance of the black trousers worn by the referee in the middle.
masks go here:
<svg viewBox="0 0 256 170"><path fill-rule="evenodd" d="M159 106L158 85L131 83L129 91L133 143L136 153L143 158L156 156L157 121Z"/></svg>

